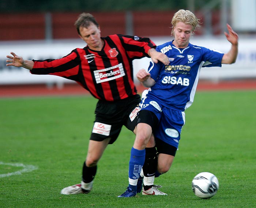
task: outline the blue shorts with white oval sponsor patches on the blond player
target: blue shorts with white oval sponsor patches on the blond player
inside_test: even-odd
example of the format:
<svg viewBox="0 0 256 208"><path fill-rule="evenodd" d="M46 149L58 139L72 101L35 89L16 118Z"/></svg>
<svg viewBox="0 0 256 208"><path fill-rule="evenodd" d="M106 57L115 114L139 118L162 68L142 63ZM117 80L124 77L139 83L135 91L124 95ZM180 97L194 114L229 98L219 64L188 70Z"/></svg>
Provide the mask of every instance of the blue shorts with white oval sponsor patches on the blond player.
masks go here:
<svg viewBox="0 0 256 208"><path fill-rule="evenodd" d="M148 110L153 112L158 118L158 126L153 129L154 136L178 149L181 129L185 124L185 113L162 106L150 98L143 99L140 102L140 111ZM148 123L148 118L141 118L140 123Z"/></svg>

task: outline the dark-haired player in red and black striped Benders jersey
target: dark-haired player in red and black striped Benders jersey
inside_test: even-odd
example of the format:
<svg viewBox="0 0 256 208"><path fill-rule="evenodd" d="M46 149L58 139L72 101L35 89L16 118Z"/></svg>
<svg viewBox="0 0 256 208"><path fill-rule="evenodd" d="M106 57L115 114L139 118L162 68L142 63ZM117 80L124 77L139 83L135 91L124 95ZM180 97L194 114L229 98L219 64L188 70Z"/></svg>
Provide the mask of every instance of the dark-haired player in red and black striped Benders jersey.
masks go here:
<svg viewBox="0 0 256 208"><path fill-rule="evenodd" d="M136 134L140 96L133 83L132 60L151 57L155 63L169 64L167 56L157 52L149 38L117 34L102 38L100 27L90 13L82 13L75 26L86 47L76 48L60 59L46 60L24 60L11 52L6 64L27 68L31 74L74 80L99 99L81 184L62 189L65 195L91 191L97 163L106 146L117 139L123 125Z"/></svg>

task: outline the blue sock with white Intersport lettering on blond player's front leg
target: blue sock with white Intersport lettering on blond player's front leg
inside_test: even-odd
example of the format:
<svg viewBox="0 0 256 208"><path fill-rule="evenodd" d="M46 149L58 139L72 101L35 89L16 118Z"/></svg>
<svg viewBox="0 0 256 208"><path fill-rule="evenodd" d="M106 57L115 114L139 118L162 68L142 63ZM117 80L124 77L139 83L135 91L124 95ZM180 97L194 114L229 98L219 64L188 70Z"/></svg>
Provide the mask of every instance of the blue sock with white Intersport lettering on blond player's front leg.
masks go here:
<svg viewBox="0 0 256 208"><path fill-rule="evenodd" d="M131 158L129 162L129 178L131 179L137 179L140 176L140 172L142 170L144 161L145 161L145 155L146 155L146 150L138 150L134 149L132 147L131 150ZM135 193L137 192L137 186L130 185L129 187L134 191Z"/></svg>

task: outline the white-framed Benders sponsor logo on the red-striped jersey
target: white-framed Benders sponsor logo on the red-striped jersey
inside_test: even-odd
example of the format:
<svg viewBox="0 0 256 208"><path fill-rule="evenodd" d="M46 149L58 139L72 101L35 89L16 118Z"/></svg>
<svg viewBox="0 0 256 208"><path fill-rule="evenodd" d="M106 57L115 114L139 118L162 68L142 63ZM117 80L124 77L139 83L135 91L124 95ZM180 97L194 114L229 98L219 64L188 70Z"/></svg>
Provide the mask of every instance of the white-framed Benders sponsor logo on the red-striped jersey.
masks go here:
<svg viewBox="0 0 256 208"><path fill-rule="evenodd" d="M102 82L108 82L110 80L125 76L123 64L120 63L116 66L112 66L109 68L95 70L94 76L95 76L95 81L97 84L102 83Z"/></svg>

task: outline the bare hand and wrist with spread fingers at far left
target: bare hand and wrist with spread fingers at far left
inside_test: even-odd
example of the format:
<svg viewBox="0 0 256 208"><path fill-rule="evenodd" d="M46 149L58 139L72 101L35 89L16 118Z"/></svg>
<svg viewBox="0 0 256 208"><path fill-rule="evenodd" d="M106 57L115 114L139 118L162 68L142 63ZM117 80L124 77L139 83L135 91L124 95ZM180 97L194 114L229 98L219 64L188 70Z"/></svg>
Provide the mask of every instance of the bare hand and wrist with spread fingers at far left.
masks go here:
<svg viewBox="0 0 256 208"><path fill-rule="evenodd" d="M11 52L12 56L7 55L6 57L8 60L8 64L6 66L16 66L16 67L23 67L29 70L32 70L34 66L34 62L31 60L24 60L21 56L17 56L14 52Z"/></svg>

